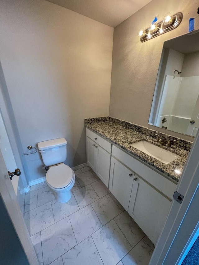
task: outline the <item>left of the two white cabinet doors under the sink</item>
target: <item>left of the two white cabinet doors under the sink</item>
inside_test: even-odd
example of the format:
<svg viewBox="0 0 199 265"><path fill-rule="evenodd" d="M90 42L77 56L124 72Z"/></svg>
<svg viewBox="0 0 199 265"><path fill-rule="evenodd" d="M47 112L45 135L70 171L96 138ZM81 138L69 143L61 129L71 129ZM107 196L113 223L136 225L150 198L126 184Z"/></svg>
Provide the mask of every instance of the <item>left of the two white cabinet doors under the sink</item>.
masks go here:
<svg viewBox="0 0 199 265"><path fill-rule="evenodd" d="M111 158L109 190L126 211L131 197L133 177L133 172L115 158Z"/></svg>

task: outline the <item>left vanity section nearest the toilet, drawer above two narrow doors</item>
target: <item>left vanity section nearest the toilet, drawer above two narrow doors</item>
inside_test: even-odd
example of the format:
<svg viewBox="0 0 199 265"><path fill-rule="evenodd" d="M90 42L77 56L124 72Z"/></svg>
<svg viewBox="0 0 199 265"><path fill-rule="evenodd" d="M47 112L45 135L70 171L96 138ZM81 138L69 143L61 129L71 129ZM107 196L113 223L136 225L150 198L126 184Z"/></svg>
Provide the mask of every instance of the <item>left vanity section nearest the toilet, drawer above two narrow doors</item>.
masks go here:
<svg viewBox="0 0 199 265"><path fill-rule="evenodd" d="M88 166L109 187L111 143L86 129L86 150Z"/></svg>

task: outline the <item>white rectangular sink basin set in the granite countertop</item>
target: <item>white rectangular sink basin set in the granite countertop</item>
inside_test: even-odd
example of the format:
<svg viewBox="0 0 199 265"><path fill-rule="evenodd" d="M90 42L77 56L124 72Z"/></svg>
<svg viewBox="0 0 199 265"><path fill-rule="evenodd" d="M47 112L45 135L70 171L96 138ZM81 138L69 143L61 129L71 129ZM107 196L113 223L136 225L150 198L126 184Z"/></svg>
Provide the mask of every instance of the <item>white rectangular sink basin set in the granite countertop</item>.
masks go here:
<svg viewBox="0 0 199 265"><path fill-rule="evenodd" d="M165 150L155 144L151 144L144 140L133 144L129 143L129 145L137 148L138 150L142 151L143 153L146 153L151 157L158 159L164 164L169 164L170 162L180 157L177 154L169 152L168 150Z"/></svg>

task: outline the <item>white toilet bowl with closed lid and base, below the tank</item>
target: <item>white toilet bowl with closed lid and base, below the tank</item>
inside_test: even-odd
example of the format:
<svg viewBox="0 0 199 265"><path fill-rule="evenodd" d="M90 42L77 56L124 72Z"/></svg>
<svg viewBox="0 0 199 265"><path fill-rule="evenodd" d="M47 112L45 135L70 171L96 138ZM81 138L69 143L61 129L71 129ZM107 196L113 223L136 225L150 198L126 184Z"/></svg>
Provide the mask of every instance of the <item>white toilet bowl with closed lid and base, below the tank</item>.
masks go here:
<svg viewBox="0 0 199 265"><path fill-rule="evenodd" d="M55 195L55 199L59 203L66 203L71 199L71 189L75 184L74 171L60 163L49 167L46 173L46 183Z"/></svg>

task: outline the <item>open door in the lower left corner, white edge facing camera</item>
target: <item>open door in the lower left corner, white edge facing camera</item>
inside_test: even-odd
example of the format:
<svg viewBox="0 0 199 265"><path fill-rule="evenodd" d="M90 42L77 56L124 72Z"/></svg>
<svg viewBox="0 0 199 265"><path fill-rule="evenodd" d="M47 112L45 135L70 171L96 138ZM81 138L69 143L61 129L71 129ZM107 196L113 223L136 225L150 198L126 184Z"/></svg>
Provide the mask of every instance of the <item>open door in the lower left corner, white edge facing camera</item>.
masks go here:
<svg viewBox="0 0 199 265"><path fill-rule="evenodd" d="M1 262L2 264L39 265L29 232L21 215L11 180L0 150ZM4 211L4 212L3 212ZM10 230L6 233L10 225ZM14 228L14 229L13 229ZM11 230L13 236L10 236ZM16 235L16 236L14 236ZM17 254L18 253L18 254ZM25 257L26 256L26 257ZM4 262L2 258L6 258ZM21 259L21 260L20 260ZM27 262L28 260L28 262Z"/></svg>

